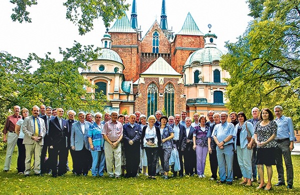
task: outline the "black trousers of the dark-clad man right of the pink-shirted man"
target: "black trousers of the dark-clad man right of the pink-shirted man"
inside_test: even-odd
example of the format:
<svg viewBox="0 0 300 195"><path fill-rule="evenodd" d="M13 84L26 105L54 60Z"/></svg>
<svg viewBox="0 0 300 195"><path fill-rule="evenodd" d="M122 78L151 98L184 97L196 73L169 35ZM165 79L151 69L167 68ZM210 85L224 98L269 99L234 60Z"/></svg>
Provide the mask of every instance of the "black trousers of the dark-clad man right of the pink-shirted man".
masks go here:
<svg viewBox="0 0 300 195"><path fill-rule="evenodd" d="M135 177L139 166L140 144L124 144L126 157L126 176Z"/></svg>

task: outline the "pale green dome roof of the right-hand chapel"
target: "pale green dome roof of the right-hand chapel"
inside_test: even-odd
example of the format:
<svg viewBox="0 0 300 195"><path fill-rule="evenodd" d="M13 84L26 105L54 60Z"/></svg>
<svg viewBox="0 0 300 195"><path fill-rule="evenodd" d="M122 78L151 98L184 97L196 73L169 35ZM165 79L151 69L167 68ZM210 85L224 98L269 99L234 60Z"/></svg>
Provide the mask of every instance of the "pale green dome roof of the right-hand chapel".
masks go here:
<svg viewBox="0 0 300 195"><path fill-rule="evenodd" d="M205 47L193 52L186 60L184 65L190 65L197 61L199 63L212 63L214 60L220 60L223 53L215 47Z"/></svg>

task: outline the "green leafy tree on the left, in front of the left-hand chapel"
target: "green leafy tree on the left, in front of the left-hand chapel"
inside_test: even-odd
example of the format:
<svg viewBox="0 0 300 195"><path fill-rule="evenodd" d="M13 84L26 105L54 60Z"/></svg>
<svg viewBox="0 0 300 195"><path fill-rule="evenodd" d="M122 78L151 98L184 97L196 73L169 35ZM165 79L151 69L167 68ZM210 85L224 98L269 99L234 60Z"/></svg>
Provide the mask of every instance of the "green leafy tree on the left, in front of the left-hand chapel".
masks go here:
<svg viewBox="0 0 300 195"><path fill-rule="evenodd" d="M50 53L45 58L31 54L40 67L19 91L18 101L30 106L45 104L66 110L102 112L105 98L102 93L87 93L83 86L94 86L78 71L87 68L86 61L97 58L98 50L75 42L72 48L59 48L63 60L58 62L49 57Z"/></svg>

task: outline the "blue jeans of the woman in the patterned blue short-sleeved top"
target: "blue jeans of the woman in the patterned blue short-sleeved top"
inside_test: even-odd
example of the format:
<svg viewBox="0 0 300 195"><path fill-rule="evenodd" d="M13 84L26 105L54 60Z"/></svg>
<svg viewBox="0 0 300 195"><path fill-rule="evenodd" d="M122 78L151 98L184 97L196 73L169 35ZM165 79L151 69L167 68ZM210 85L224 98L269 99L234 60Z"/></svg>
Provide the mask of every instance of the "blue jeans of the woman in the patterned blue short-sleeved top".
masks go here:
<svg viewBox="0 0 300 195"><path fill-rule="evenodd" d="M104 151L90 151L92 157L91 175L103 176L105 157Z"/></svg>

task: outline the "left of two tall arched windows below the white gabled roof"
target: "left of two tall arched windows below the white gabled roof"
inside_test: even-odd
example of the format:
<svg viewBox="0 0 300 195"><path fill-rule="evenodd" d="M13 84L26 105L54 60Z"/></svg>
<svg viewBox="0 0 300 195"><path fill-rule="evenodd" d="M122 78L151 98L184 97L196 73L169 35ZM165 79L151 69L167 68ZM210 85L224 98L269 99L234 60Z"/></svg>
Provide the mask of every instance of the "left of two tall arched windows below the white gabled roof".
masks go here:
<svg viewBox="0 0 300 195"><path fill-rule="evenodd" d="M154 83L151 83L147 89L147 115L154 115L157 110L158 89Z"/></svg>

